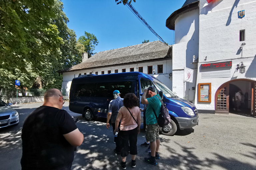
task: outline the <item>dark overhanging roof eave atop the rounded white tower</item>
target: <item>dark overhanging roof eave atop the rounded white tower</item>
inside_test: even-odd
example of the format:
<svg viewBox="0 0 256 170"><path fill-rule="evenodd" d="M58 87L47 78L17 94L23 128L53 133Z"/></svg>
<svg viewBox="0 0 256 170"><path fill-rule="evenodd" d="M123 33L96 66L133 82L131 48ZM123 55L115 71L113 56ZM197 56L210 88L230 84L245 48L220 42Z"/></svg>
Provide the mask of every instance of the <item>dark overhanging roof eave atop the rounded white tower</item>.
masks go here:
<svg viewBox="0 0 256 170"><path fill-rule="evenodd" d="M165 26L170 30L175 30L175 20L182 14L199 8L200 0L186 0L183 6L174 11L166 20Z"/></svg>

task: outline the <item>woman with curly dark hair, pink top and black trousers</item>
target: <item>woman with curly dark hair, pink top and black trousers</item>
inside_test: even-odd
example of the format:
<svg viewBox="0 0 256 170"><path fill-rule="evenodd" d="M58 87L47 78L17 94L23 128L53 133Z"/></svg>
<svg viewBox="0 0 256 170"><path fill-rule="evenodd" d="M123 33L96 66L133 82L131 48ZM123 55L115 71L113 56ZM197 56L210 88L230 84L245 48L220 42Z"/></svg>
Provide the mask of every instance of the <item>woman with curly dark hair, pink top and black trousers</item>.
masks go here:
<svg viewBox="0 0 256 170"><path fill-rule="evenodd" d="M118 131L118 123L121 120L118 135L121 138L121 166L126 169L126 156L132 155L132 167L136 166L137 155L137 135L140 133L141 115L139 106L139 99L133 93L128 93L124 96L124 106L118 111L116 118L115 131ZM130 111L130 112L129 112ZM129 148L130 143L130 148Z"/></svg>

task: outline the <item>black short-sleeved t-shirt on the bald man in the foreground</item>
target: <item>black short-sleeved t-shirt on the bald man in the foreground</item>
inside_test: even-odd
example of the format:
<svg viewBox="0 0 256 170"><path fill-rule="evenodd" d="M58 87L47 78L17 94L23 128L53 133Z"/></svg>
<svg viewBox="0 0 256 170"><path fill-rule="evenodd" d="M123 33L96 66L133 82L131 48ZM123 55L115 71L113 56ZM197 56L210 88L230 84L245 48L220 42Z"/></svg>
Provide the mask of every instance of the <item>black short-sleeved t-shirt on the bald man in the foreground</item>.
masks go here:
<svg viewBox="0 0 256 170"><path fill-rule="evenodd" d="M66 170L74 160L74 146L63 134L76 128L65 110L37 108L25 119L22 128L22 170Z"/></svg>

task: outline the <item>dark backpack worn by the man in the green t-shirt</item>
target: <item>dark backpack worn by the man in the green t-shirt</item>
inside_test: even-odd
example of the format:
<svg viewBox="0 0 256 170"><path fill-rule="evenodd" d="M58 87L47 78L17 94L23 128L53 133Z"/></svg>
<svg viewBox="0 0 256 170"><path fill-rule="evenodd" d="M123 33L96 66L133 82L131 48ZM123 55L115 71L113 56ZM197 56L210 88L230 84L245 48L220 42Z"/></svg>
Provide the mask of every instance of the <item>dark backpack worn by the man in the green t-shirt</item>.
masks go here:
<svg viewBox="0 0 256 170"><path fill-rule="evenodd" d="M165 107L163 101L158 96L157 96L157 98L161 101L161 109L160 109L160 114L158 117L156 116L155 110L153 108L152 109L156 116L158 125L161 128L163 128L164 126L168 125L171 122L171 117L169 115L169 110Z"/></svg>

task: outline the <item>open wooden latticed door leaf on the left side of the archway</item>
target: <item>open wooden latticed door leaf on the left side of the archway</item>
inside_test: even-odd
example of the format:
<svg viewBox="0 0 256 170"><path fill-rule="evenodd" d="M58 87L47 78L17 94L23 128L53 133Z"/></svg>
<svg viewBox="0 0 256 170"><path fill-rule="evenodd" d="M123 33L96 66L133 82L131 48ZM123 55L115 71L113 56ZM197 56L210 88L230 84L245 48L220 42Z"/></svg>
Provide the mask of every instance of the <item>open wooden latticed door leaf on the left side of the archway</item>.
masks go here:
<svg viewBox="0 0 256 170"><path fill-rule="evenodd" d="M215 113L228 114L229 112L229 83L215 94Z"/></svg>

